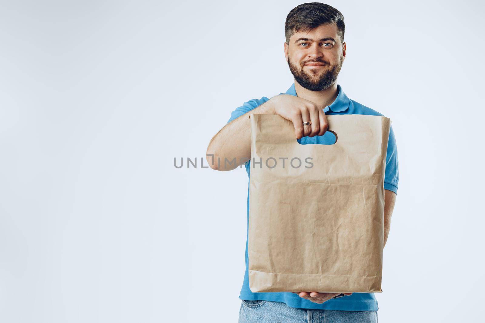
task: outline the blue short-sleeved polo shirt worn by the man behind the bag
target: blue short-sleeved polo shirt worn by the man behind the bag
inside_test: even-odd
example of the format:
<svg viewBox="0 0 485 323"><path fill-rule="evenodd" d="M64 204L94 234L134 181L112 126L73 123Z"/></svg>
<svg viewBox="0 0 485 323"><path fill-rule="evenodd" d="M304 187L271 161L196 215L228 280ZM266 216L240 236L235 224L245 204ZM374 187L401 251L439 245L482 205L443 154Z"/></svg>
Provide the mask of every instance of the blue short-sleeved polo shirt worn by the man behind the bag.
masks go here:
<svg viewBox="0 0 485 323"><path fill-rule="evenodd" d="M366 106L357 103L354 100L350 100L347 95L342 91L340 85L337 86L339 94L334 102L328 107L323 109L326 115L329 114L367 114L373 116L382 116L381 113L367 108ZM291 87L285 93L280 94L291 94L296 96L295 84L293 83ZM231 118L227 123L230 123L234 119L242 116L244 113L257 108L264 102L268 101L269 98L263 96L260 99L252 99L236 108L231 113ZM297 140L301 144L332 144L335 142L335 136L330 132L325 132L323 136L315 137L303 137ZM246 165L246 172L249 176L250 174L250 162ZM393 191L397 194L397 187L399 181L399 170L398 170L398 157L396 149L396 140L394 138L394 131L392 126L389 132L388 150L386 156L386 173L384 177L384 189ZM247 196L247 228L249 229L249 185L248 185L248 196ZM241 293L239 295L240 299L243 300L267 300L274 302L286 303L292 308L312 308L312 309L336 309L336 310L378 310L378 303L374 296L374 293L362 293L355 292L350 296L344 296L336 299L331 299L323 304L313 303L305 298L301 298L297 294L292 292L251 292L249 289L249 278L248 278L248 235L246 235L246 271L244 273L244 280L242 283ZM311 292L311 291L301 291L301 292Z"/></svg>

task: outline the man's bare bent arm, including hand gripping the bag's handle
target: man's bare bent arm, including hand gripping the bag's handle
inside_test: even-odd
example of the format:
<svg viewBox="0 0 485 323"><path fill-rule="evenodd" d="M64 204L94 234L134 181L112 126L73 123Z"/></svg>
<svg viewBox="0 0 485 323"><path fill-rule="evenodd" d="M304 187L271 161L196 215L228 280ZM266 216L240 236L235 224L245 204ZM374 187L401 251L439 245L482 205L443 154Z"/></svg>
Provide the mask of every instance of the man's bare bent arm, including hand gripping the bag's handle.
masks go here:
<svg viewBox="0 0 485 323"><path fill-rule="evenodd" d="M325 133L328 122L323 108L319 104L294 95L280 94L272 97L257 108L227 123L210 140L206 156L210 168L232 170L251 158L249 115L278 114L293 123L295 137L299 139L304 136L322 136ZM303 125L303 120L311 121L311 125Z"/></svg>

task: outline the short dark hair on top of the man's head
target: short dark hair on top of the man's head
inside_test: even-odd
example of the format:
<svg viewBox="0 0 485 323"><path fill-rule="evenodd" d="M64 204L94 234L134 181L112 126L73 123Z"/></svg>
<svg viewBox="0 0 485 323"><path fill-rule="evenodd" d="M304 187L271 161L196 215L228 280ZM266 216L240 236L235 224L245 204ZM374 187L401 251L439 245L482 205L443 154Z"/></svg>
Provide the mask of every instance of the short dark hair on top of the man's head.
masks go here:
<svg viewBox="0 0 485 323"><path fill-rule="evenodd" d="M310 31L324 24L337 24L340 41L343 43L345 23L343 15L334 7L321 2L307 2L294 7L285 22L286 42L295 32Z"/></svg>

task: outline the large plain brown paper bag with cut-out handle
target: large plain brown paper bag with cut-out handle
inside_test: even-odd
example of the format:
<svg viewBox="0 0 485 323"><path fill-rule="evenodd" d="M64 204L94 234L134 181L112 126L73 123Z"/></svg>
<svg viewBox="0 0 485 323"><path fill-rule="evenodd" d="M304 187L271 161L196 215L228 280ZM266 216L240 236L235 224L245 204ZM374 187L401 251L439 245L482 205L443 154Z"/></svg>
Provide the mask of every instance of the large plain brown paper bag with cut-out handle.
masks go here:
<svg viewBox="0 0 485 323"><path fill-rule="evenodd" d="M327 120L335 144L302 145L290 121L250 115L252 292L382 292L391 121L356 114Z"/></svg>

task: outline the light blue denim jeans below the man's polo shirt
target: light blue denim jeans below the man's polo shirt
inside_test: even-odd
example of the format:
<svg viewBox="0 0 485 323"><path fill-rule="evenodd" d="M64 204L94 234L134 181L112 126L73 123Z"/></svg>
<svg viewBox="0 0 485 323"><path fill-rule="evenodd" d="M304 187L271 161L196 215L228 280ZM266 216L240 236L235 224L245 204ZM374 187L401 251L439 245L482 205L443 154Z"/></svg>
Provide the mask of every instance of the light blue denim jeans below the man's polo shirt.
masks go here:
<svg viewBox="0 0 485 323"><path fill-rule="evenodd" d="M291 308L272 301L241 301L239 323L377 323L377 311Z"/></svg>

